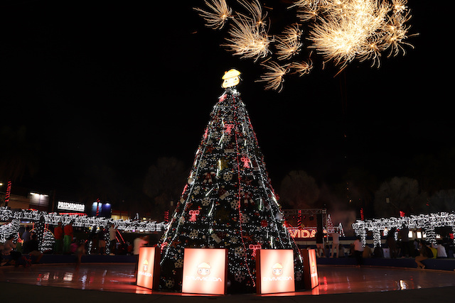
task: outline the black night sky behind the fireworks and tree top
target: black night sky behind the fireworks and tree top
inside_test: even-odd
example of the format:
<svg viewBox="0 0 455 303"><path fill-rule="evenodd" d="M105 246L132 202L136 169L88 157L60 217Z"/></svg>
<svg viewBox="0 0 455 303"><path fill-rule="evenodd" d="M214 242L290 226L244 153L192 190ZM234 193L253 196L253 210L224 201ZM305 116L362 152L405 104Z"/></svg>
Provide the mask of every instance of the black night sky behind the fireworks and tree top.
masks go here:
<svg viewBox="0 0 455 303"><path fill-rule="evenodd" d="M285 79L277 93L255 82L259 62L220 47L226 30L205 28L192 9L203 1L95 2L0 6L1 155L26 146L36 163L16 184L77 197L96 170L127 197L159 157L189 169L232 67L274 187L290 170L319 184L339 182L347 167L386 180L416 155L455 148L448 9L410 1L419 35L405 56L385 54L379 69L353 62L335 77L314 55L310 75ZM288 4L272 2L273 28ZM5 139L19 129L24 142Z"/></svg>

